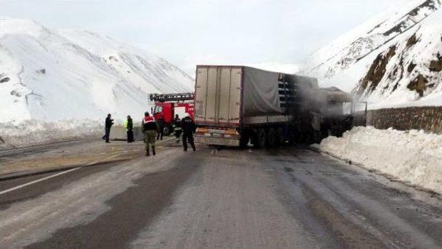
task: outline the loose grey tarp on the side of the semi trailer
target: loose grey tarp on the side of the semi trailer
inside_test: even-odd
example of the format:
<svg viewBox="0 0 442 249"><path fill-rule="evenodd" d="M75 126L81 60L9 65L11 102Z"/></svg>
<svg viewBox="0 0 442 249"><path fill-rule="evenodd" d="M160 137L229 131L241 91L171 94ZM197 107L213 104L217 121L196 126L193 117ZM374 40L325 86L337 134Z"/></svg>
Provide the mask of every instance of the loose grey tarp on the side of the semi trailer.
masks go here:
<svg viewBox="0 0 442 249"><path fill-rule="evenodd" d="M280 73L244 67L243 74L242 114L244 117L281 114L278 92Z"/></svg>

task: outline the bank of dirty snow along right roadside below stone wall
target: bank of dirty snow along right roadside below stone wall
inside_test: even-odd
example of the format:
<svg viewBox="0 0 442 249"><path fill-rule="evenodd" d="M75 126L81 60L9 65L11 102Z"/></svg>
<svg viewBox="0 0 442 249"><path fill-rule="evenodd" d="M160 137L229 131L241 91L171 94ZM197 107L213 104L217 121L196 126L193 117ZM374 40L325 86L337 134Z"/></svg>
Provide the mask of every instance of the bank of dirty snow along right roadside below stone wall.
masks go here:
<svg viewBox="0 0 442 249"><path fill-rule="evenodd" d="M320 150L442 194L442 135L358 127L325 139Z"/></svg>

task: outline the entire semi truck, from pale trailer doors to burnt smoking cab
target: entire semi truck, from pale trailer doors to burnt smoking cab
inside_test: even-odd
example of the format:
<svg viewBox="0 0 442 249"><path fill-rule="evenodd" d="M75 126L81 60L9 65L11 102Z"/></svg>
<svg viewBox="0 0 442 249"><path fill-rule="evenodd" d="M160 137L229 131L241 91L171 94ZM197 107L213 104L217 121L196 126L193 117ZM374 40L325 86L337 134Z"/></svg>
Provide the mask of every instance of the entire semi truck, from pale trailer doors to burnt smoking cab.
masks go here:
<svg viewBox="0 0 442 249"><path fill-rule="evenodd" d="M316 78L247 66L197 66L195 141L256 148L318 142L355 125L353 105L351 94L319 88ZM365 119L366 111L358 120L365 125Z"/></svg>

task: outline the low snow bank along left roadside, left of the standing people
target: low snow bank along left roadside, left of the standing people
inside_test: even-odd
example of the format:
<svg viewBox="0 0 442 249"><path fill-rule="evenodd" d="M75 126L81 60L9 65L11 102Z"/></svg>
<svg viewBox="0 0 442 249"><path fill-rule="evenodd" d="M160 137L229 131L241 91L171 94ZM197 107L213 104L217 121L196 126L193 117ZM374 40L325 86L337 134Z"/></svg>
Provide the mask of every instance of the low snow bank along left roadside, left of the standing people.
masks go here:
<svg viewBox="0 0 442 249"><path fill-rule="evenodd" d="M0 150L103 135L103 121L82 119L0 123Z"/></svg>

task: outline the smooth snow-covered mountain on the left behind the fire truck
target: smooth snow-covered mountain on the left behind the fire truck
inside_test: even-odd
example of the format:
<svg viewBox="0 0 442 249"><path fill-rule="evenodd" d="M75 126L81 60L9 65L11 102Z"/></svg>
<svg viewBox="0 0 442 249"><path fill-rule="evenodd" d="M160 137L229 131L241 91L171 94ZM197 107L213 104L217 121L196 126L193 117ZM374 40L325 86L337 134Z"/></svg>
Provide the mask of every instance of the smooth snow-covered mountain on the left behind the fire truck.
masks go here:
<svg viewBox="0 0 442 249"><path fill-rule="evenodd" d="M148 93L193 85L171 63L109 37L0 19L0 123L141 117Z"/></svg>

